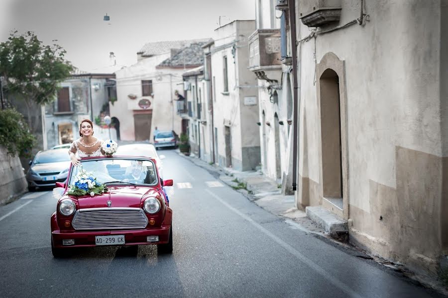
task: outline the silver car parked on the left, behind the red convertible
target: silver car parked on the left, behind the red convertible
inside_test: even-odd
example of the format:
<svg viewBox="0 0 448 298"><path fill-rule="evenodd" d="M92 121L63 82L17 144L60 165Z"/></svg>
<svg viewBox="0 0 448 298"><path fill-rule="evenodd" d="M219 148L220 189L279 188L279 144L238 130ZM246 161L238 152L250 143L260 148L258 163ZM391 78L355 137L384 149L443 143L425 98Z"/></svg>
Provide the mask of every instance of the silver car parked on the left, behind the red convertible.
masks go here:
<svg viewBox="0 0 448 298"><path fill-rule="evenodd" d="M26 173L28 190L38 187L55 186L56 182L67 179L70 167L70 156L67 149L51 149L37 152L29 161L30 168Z"/></svg>

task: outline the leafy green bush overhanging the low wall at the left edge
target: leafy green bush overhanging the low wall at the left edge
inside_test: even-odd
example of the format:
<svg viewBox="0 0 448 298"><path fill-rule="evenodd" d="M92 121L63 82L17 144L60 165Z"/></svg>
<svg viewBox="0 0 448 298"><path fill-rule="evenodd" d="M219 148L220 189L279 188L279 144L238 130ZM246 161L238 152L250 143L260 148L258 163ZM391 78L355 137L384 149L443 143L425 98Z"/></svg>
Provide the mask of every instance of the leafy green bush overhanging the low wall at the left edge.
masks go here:
<svg viewBox="0 0 448 298"><path fill-rule="evenodd" d="M12 156L29 157L35 139L22 114L14 109L0 110L0 123L0 144Z"/></svg>

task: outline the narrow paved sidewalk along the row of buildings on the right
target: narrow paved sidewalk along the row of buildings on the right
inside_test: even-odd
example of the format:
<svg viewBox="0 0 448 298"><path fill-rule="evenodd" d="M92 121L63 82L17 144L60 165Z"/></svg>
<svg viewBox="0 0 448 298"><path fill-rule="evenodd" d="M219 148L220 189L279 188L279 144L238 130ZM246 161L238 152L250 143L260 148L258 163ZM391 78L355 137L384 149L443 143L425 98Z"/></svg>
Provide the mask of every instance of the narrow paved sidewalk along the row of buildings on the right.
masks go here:
<svg viewBox="0 0 448 298"><path fill-rule="evenodd" d="M264 210L283 217L285 221L289 221L290 224L294 224L295 227L305 232L329 238L321 227L307 218L304 211L295 207L293 195L282 195L281 185L264 176L261 171L241 172L232 168L222 168L199 159L195 154L186 156L180 153L179 150L177 151L179 155L208 170L212 175L243 194L247 199Z"/></svg>

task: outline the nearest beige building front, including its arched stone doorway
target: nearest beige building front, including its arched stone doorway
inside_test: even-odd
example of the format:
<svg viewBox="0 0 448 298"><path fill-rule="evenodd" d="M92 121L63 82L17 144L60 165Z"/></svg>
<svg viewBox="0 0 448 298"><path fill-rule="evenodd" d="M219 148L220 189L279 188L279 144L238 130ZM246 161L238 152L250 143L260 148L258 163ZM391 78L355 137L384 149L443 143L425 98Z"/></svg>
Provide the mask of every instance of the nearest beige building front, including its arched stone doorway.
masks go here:
<svg viewBox="0 0 448 298"><path fill-rule="evenodd" d="M297 206L323 206L348 221L351 242L437 273L448 254L448 2L294 5Z"/></svg>

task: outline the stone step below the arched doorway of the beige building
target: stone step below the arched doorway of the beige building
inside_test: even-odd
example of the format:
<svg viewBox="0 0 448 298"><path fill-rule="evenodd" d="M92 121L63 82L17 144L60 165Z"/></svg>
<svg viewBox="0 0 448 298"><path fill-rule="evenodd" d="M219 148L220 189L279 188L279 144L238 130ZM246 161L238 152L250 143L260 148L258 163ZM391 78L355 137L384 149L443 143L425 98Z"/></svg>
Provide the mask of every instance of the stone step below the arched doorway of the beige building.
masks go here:
<svg viewBox="0 0 448 298"><path fill-rule="evenodd" d="M307 217L322 227L331 237L341 240L348 240L347 221L324 207L312 206L305 208Z"/></svg>

